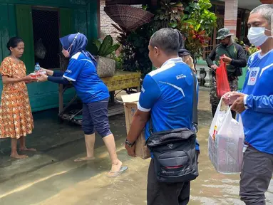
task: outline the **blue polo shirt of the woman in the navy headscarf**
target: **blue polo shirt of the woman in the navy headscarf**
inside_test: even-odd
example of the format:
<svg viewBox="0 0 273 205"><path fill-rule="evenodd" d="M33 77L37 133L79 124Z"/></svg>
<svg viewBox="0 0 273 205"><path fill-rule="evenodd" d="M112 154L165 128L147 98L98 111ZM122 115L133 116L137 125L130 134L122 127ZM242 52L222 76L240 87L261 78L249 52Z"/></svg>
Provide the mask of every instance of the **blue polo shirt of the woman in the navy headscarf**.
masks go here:
<svg viewBox="0 0 273 205"><path fill-rule="evenodd" d="M109 98L108 88L101 78L98 78L93 61L81 52L72 56L63 78L73 83L83 103L98 102Z"/></svg>

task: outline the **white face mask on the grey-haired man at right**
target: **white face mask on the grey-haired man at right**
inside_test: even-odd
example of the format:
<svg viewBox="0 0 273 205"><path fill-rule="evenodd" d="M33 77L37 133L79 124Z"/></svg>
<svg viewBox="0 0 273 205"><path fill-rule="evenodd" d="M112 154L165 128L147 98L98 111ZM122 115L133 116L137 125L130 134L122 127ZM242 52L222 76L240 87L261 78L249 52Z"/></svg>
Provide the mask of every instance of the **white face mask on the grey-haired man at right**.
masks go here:
<svg viewBox="0 0 273 205"><path fill-rule="evenodd" d="M251 44L254 46L262 46L268 38L272 38L272 36L267 36L264 34L264 31L267 30L264 27L251 27L249 28L247 38ZM271 32L271 31L270 31Z"/></svg>

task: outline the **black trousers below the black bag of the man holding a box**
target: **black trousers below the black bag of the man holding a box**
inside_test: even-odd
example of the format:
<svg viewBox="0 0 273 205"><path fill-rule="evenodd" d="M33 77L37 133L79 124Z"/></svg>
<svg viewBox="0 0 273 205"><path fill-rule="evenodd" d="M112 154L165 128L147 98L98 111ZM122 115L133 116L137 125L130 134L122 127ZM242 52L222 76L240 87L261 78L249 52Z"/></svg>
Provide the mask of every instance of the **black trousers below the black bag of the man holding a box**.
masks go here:
<svg viewBox="0 0 273 205"><path fill-rule="evenodd" d="M148 205L186 205L190 201L190 182L166 184L158 182L153 159L148 171Z"/></svg>

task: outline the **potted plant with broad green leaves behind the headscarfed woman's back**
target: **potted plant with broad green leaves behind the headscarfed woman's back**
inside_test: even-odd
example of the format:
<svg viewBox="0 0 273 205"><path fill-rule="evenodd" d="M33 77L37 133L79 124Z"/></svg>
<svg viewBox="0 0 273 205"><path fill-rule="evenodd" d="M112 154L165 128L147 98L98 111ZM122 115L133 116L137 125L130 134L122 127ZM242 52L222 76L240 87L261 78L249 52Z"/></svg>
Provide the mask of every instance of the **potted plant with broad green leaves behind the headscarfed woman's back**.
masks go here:
<svg viewBox="0 0 273 205"><path fill-rule="evenodd" d="M112 77L115 74L115 60L110 55L120 48L119 44L113 44L112 36L105 36L103 41L96 39L92 42L91 53L98 62L97 73L100 78Z"/></svg>

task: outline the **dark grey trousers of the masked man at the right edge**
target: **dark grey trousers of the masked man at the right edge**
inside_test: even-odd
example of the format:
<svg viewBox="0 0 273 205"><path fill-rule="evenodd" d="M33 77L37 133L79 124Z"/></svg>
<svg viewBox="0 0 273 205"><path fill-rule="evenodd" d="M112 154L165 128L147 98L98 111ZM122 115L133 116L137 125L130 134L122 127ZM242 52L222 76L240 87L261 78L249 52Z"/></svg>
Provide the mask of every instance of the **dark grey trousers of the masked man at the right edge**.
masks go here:
<svg viewBox="0 0 273 205"><path fill-rule="evenodd" d="M265 205L267 191L273 172L273 154L259 152L247 147L239 182L239 196L247 205Z"/></svg>

